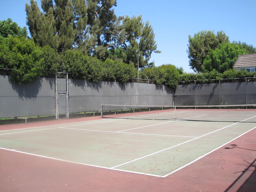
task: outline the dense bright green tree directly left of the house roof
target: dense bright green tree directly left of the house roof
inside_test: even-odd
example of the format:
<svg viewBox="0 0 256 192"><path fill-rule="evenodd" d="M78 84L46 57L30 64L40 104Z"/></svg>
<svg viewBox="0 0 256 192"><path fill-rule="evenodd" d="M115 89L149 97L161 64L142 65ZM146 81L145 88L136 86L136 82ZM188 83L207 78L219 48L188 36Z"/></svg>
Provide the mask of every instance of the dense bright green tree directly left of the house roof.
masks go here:
<svg viewBox="0 0 256 192"><path fill-rule="evenodd" d="M204 59L202 70L210 72L215 69L217 72L223 73L233 68L237 57L242 54L247 54L247 51L237 44L229 42L219 44L219 48L210 50Z"/></svg>

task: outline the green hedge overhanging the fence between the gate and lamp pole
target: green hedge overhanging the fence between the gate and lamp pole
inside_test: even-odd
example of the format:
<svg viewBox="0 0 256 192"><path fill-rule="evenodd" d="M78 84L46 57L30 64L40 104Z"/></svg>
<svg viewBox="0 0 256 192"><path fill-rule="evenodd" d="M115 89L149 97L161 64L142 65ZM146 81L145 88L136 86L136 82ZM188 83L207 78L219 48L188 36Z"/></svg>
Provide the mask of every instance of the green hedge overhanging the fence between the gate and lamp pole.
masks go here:
<svg viewBox="0 0 256 192"><path fill-rule="evenodd" d="M126 83L136 76L133 65L111 59L102 62L74 50L64 53L62 70L68 72L70 78L87 79L91 82L104 80Z"/></svg>

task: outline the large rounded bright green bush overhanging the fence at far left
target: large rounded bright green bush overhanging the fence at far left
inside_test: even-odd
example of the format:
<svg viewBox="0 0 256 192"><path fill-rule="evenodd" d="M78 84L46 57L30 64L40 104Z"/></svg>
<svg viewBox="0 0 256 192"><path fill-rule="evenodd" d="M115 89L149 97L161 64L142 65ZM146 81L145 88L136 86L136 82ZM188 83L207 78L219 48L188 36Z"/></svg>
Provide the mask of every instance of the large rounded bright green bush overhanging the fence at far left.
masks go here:
<svg viewBox="0 0 256 192"><path fill-rule="evenodd" d="M42 50L25 37L0 40L0 68L11 70L11 79L18 83L34 81L42 75Z"/></svg>

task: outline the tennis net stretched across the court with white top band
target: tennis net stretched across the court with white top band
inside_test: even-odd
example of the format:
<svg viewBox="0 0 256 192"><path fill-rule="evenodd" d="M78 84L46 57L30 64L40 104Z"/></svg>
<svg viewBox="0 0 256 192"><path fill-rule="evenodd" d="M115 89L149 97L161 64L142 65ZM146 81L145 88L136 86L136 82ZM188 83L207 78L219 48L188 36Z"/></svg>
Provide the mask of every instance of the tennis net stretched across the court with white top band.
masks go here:
<svg viewBox="0 0 256 192"><path fill-rule="evenodd" d="M102 118L256 122L255 105L101 105Z"/></svg>

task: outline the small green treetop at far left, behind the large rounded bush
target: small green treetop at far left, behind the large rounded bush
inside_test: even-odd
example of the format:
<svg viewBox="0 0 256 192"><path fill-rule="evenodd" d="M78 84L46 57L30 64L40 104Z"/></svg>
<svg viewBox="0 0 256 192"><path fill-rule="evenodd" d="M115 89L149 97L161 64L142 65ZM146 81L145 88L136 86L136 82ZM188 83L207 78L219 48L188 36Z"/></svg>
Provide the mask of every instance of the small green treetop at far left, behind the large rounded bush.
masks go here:
<svg viewBox="0 0 256 192"><path fill-rule="evenodd" d="M27 37L27 28L21 28L16 22L13 22L11 18L7 20L0 21L0 36L9 37Z"/></svg>

